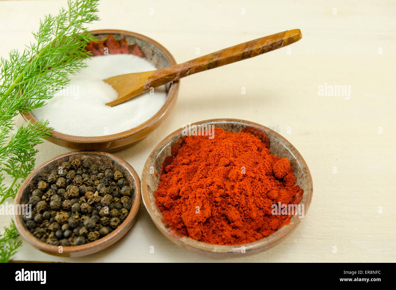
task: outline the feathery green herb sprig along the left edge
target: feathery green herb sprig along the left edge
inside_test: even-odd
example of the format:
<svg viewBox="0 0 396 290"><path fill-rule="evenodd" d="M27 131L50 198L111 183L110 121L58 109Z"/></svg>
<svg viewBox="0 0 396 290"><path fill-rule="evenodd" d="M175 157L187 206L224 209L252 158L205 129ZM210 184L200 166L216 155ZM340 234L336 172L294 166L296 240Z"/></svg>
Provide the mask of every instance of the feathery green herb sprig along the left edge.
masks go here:
<svg viewBox="0 0 396 290"><path fill-rule="evenodd" d="M34 169L34 146L43 142L52 128L48 121L28 122L16 129L13 118L19 111L30 111L45 105L46 100L70 82L68 75L85 67L90 56L84 48L94 36L84 24L99 20L99 0L68 0L68 10L57 16L46 15L40 21L36 42L23 52L11 50L9 60L0 59L0 204L14 198ZM11 180L10 184L4 181ZM11 224L8 239L0 239L0 261L8 261L20 243ZM7 236L7 235L6 235Z"/></svg>

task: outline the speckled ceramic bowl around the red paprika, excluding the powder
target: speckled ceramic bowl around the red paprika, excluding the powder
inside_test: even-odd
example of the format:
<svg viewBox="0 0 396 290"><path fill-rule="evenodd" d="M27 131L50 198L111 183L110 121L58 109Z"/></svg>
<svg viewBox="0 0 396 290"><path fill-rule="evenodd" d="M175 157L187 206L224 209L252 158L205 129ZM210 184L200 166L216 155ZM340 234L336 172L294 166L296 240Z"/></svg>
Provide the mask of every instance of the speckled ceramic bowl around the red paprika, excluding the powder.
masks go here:
<svg viewBox="0 0 396 290"><path fill-rule="evenodd" d="M304 205L304 215L307 213L308 207L312 199L312 178L309 172L307 163L305 163L301 154L289 141L287 141L280 134L272 131L271 129L244 120L237 119L212 119L194 123L192 125L212 125L220 127L226 131L240 132L245 127L250 127L249 132L252 134L259 135L259 132L264 130L268 138L270 139L270 150L271 153L278 157L286 157L291 162L291 166L294 167L294 174L296 177L296 184L299 185L303 190L304 194L300 204ZM256 132L256 133L254 133ZM297 227L301 219L297 215L291 217L290 223L278 229L273 234L257 240L255 242L247 243L244 245L235 246L223 246L207 244L188 238L183 234L177 232L177 230L170 227L163 219L161 211L155 204L154 192L158 188L160 181L160 167L167 156L171 156L171 149L177 150L177 146L173 146L182 136L182 129L171 133L164 140L158 144L151 152L150 156L146 161L142 173L142 198L148 213L156 227L172 242L185 248L189 251L207 255L209 257L216 258L230 258L230 257L246 257L246 255L253 255L272 248ZM151 174L150 167L154 167L155 173ZM244 246L244 248L242 248Z"/></svg>

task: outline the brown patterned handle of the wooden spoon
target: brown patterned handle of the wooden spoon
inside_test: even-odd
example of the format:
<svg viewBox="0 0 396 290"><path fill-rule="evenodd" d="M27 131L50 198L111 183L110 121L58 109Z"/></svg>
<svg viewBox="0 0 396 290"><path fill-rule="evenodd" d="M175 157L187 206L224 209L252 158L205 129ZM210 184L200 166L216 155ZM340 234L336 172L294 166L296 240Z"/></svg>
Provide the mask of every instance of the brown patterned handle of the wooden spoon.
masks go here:
<svg viewBox="0 0 396 290"><path fill-rule="evenodd" d="M246 60L247 58L253 58L254 56L292 44L293 42L300 40L301 37L300 29L287 30L231 46L229 48L207 54L206 56L186 61L185 63L172 65L164 69L158 69L148 77L143 86L143 90L146 91L150 87L156 87L171 81L177 81L178 79L187 77L193 73L199 73L200 71L206 71L228 63Z"/></svg>

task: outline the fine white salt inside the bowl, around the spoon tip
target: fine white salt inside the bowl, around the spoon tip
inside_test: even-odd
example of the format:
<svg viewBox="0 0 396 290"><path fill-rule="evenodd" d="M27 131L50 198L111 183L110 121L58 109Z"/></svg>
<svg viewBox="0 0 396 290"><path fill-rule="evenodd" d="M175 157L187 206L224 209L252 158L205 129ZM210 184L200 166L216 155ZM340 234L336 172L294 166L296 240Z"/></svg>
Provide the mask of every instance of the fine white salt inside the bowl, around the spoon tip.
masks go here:
<svg viewBox="0 0 396 290"><path fill-rule="evenodd" d="M152 71L156 67L131 54L109 54L87 59L87 67L70 75L70 85L32 113L49 121L55 131L75 136L104 136L120 133L144 123L164 105L165 86L154 88L118 106L105 104L117 92L103 79L126 73Z"/></svg>

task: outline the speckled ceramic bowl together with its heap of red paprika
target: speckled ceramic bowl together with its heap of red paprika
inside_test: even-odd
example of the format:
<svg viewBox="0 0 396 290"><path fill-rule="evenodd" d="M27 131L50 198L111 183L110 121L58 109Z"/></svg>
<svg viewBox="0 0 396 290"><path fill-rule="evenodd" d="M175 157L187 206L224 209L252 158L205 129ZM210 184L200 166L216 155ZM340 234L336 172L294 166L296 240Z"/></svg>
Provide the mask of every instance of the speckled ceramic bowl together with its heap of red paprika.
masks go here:
<svg viewBox="0 0 396 290"><path fill-rule="evenodd" d="M172 242L209 257L244 257L284 240L305 217L312 178L280 134L212 119L162 140L142 173L142 198Z"/></svg>

